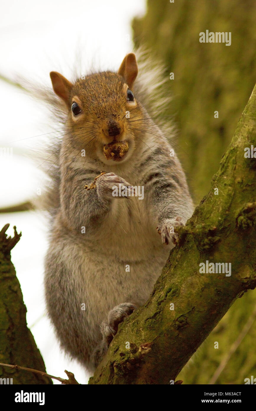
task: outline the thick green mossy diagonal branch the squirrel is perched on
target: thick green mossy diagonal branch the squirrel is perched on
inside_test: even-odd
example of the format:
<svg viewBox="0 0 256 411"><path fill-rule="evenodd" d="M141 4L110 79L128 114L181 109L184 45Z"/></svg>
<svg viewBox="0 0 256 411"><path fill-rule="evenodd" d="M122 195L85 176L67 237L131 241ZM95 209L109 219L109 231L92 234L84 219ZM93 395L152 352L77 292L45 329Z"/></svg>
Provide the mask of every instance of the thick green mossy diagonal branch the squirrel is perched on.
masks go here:
<svg viewBox="0 0 256 411"><path fill-rule="evenodd" d="M256 86L208 195L177 229L178 244L150 299L120 324L90 384L175 381L232 303L256 287L256 159L244 157L251 145L256 147ZM231 276L200 273L206 261L231 263Z"/></svg>

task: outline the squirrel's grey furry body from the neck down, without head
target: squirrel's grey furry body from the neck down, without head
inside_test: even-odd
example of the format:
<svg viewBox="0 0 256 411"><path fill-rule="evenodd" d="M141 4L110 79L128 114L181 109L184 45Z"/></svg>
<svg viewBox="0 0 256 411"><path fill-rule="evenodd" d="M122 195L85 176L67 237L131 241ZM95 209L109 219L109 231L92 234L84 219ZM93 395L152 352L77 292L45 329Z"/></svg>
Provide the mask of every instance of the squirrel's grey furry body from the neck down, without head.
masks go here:
<svg viewBox="0 0 256 411"><path fill-rule="evenodd" d="M113 84L115 92L118 75L113 80L108 72L104 76L106 87ZM151 76L144 92L139 81L134 95L143 104L156 81ZM100 102L101 96L97 98ZM160 100L161 106L168 102ZM103 103L107 110L106 99ZM46 199L52 216L46 304L62 348L90 372L106 353L118 322L148 300L173 247L172 226L185 224L193 211L180 162L170 156L168 133L150 120L143 106L141 111L141 122L136 116L127 121L136 149L125 162L108 164L91 152L82 158L83 145L71 133L55 151L53 189ZM106 174L95 180L96 187L86 189L101 171ZM112 187L119 182L144 186L145 198L114 198Z"/></svg>

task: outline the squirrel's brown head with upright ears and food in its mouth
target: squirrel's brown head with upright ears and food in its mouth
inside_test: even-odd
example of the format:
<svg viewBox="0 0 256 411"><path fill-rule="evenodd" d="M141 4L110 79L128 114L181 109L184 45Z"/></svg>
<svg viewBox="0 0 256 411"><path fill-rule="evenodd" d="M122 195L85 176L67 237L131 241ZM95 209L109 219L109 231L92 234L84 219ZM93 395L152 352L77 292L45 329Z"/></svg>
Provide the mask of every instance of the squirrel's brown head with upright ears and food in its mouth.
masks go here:
<svg viewBox="0 0 256 411"><path fill-rule="evenodd" d="M131 121L142 115L132 91L137 73L133 53L125 56L118 73L90 74L74 84L57 72L50 73L53 90L67 107L72 145L96 154L105 164L130 157L136 143Z"/></svg>

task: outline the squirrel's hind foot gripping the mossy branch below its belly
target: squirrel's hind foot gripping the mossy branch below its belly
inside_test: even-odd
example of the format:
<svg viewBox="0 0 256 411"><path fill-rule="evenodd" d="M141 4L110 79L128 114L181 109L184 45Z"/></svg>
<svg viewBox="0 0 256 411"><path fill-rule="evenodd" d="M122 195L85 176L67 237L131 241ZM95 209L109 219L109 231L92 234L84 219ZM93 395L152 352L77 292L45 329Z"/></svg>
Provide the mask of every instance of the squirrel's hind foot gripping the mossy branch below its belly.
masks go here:
<svg viewBox="0 0 256 411"><path fill-rule="evenodd" d="M101 333L109 345L118 331L118 324L124 321L125 317L134 312L136 305L131 302L122 302L108 313L108 322L101 324Z"/></svg>

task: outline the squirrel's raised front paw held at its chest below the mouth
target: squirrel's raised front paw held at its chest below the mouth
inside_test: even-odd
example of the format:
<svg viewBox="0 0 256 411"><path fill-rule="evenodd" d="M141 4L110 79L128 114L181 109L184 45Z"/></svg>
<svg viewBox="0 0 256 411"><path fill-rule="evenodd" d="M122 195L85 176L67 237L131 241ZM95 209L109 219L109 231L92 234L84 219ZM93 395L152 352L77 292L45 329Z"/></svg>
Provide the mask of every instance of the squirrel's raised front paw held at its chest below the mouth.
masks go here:
<svg viewBox="0 0 256 411"><path fill-rule="evenodd" d="M121 184L121 189L122 187L127 187L127 189L128 187L131 187L130 189L133 190L133 187L129 184L129 182L114 173L102 173L102 175L99 175L99 177L95 179L95 185L97 187L98 195L108 198L114 197L113 187L119 188L119 184Z"/></svg>

